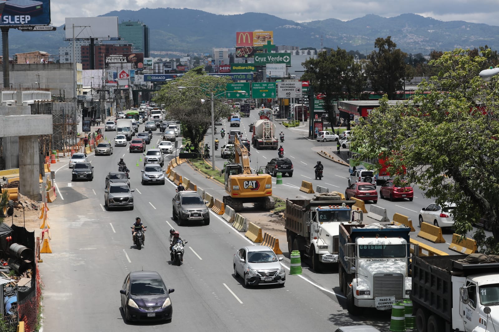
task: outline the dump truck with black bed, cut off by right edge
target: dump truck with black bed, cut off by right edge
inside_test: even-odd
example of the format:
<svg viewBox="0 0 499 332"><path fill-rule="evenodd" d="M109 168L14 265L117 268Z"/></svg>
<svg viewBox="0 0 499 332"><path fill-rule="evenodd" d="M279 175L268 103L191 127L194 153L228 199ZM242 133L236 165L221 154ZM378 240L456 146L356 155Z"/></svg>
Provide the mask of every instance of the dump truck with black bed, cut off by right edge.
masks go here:
<svg viewBox="0 0 499 332"><path fill-rule="evenodd" d="M418 332L499 331L499 260L484 254L413 257Z"/></svg>

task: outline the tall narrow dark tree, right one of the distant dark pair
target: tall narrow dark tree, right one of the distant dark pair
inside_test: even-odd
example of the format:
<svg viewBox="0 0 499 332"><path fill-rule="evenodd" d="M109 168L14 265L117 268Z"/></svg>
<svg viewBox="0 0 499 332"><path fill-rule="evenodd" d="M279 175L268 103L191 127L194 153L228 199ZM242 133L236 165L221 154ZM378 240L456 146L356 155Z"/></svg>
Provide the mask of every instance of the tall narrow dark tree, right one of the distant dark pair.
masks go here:
<svg viewBox="0 0 499 332"><path fill-rule="evenodd" d="M376 38L374 47L378 51L372 51L367 56L369 60L365 73L373 91L379 94L386 93L389 99L395 99L397 90L402 90L404 80L412 79L413 69L407 65L404 59L407 54L392 41L391 36Z"/></svg>

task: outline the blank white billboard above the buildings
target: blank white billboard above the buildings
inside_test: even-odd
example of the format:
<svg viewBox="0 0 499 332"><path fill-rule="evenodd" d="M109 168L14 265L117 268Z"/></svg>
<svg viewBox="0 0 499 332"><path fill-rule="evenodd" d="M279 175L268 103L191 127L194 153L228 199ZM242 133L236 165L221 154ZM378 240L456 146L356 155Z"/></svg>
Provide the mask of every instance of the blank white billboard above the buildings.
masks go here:
<svg viewBox="0 0 499 332"><path fill-rule="evenodd" d="M118 16L66 17L66 39L73 39L73 24L76 39L119 37Z"/></svg>

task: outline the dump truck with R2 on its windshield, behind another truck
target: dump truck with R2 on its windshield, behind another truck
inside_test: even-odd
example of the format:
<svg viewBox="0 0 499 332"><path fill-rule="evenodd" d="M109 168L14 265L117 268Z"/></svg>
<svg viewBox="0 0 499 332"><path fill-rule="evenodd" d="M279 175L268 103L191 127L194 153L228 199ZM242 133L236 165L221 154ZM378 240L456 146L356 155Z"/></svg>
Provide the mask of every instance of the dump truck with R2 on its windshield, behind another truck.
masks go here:
<svg viewBox="0 0 499 332"><path fill-rule="evenodd" d="M324 197L324 200L321 199ZM286 199L285 229L289 252L298 250L320 272L323 264L338 264L339 225L352 220L353 200L340 195ZM362 214L354 219L362 219Z"/></svg>

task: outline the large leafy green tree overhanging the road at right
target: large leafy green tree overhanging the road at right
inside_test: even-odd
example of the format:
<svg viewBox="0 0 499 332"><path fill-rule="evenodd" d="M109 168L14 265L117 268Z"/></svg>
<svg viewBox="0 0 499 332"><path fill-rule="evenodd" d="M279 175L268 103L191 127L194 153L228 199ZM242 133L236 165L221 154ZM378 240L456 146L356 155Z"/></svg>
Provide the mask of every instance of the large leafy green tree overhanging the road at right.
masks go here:
<svg viewBox="0 0 499 332"><path fill-rule="evenodd" d="M352 149L363 148L360 159L388 158L396 180L415 183L438 204L456 203L458 234L487 215L494 237L487 239L479 229L474 238L481 251L498 254L499 81L478 76L489 53L470 56L469 50L455 49L432 60L438 75L420 83L412 100L389 106L385 95L353 129Z"/></svg>

